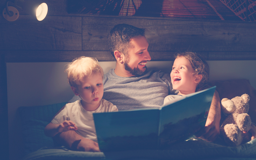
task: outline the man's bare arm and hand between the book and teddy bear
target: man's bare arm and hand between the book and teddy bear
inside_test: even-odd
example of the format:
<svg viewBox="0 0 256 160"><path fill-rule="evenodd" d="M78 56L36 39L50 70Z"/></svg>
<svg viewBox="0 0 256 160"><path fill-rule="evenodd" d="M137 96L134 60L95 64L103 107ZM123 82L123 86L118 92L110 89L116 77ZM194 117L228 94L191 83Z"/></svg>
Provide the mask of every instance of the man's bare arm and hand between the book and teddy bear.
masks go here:
<svg viewBox="0 0 256 160"><path fill-rule="evenodd" d="M215 91L205 127L196 135L196 137L208 142L214 141L220 134L220 116L220 97L219 93Z"/></svg>

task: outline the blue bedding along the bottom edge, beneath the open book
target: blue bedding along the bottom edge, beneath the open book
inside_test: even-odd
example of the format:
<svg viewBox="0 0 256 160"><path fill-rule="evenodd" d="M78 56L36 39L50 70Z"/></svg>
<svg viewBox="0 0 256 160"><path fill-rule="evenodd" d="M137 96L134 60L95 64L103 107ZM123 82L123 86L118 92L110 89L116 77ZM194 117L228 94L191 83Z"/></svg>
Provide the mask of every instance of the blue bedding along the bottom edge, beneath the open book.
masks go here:
<svg viewBox="0 0 256 160"><path fill-rule="evenodd" d="M71 160L71 159L127 159L127 160L165 160L165 159L197 159L221 160L256 159L256 139L238 147L226 147L203 140L188 140L165 150L130 150L120 152L81 152L61 148L41 148L24 157L24 160Z"/></svg>

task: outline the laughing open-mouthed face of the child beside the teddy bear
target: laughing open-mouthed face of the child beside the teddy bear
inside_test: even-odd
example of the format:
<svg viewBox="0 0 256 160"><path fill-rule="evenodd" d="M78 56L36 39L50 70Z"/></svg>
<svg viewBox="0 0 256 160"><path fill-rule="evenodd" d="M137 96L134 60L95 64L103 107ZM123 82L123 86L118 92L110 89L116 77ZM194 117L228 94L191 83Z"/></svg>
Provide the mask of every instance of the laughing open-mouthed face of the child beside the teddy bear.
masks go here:
<svg viewBox="0 0 256 160"><path fill-rule="evenodd" d="M179 94L189 94L196 91L196 85L200 82L200 76L193 75L189 60L185 57L179 57L174 60L171 72L172 87L179 90ZM198 81L199 80L199 81Z"/></svg>

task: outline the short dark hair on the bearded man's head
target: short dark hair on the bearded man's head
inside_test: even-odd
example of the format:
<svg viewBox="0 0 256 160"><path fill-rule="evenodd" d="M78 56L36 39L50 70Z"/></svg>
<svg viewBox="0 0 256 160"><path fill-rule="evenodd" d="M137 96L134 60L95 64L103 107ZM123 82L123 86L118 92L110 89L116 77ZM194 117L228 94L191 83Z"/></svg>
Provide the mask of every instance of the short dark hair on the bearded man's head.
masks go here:
<svg viewBox="0 0 256 160"><path fill-rule="evenodd" d="M123 52L125 55L127 52L126 49L130 47L130 39L136 36L144 35L144 28L137 28L129 24L118 24L114 28L112 28L108 33L108 49L114 57L114 52L116 50L119 52Z"/></svg>

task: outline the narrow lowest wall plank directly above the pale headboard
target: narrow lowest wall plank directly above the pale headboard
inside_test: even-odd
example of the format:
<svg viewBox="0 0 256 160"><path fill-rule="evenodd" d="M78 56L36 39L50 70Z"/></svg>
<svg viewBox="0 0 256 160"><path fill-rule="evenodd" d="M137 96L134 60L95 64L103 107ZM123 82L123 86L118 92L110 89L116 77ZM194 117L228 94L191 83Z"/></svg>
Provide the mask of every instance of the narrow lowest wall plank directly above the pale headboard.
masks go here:
<svg viewBox="0 0 256 160"><path fill-rule="evenodd" d="M6 62L69 62L76 57L95 57L99 61L115 61L109 51L31 51L5 50ZM172 61L176 52L149 51L151 61ZM206 60L256 60L256 52L197 52Z"/></svg>

